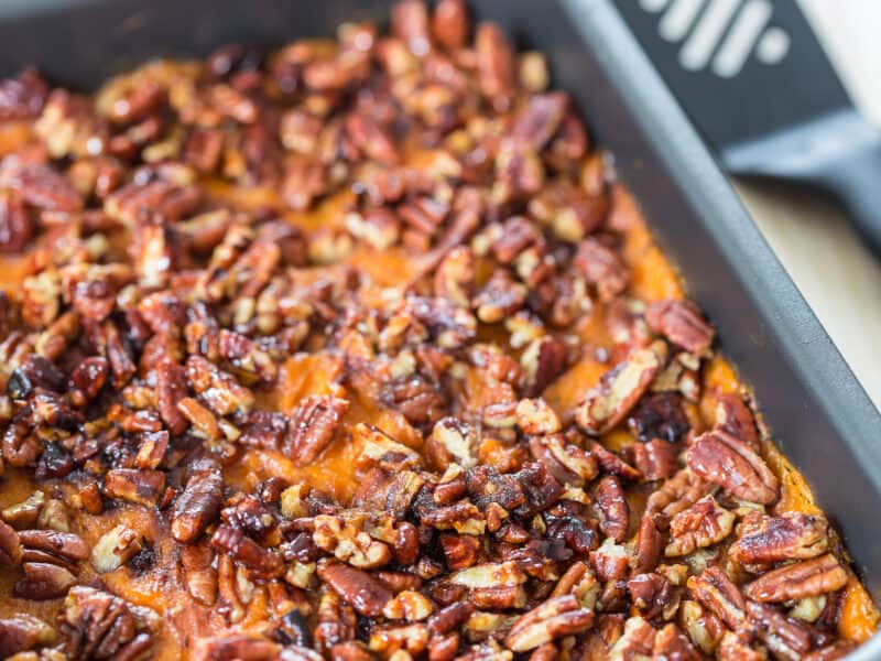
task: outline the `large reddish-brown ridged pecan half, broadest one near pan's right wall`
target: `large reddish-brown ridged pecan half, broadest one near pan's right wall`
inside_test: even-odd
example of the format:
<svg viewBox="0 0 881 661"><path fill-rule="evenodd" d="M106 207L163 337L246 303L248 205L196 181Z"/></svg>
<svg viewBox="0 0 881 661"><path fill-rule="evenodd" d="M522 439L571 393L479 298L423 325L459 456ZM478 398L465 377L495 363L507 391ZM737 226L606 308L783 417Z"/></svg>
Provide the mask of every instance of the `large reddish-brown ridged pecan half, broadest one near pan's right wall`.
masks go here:
<svg viewBox="0 0 881 661"><path fill-rule="evenodd" d="M688 467L735 498L771 505L779 483L764 460L749 445L725 432L697 437L686 454Z"/></svg>

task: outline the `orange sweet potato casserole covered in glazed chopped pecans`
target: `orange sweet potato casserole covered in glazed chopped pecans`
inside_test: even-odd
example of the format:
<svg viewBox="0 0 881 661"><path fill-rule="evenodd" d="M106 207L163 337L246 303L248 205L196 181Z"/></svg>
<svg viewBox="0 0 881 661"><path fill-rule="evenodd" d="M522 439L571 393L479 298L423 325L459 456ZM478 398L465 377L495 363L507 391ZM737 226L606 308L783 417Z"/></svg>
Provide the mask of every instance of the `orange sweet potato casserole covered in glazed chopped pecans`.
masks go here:
<svg viewBox="0 0 881 661"><path fill-rule="evenodd" d="M834 659L878 615L541 54L0 82L0 654Z"/></svg>

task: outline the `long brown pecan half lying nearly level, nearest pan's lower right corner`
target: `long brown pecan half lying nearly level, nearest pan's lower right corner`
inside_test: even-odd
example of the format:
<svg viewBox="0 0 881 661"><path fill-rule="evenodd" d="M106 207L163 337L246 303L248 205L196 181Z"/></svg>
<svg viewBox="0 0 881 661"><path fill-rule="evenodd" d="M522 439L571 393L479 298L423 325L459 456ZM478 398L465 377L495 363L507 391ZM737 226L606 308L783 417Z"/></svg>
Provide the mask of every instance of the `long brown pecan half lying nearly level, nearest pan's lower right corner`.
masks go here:
<svg viewBox="0 0 881 661"><path fill-rule="evenodd" d="M827 553L768 572L747 585L743 594L757 602L790 602L835 592L845 585L847 572L835 555Z"/></svg>

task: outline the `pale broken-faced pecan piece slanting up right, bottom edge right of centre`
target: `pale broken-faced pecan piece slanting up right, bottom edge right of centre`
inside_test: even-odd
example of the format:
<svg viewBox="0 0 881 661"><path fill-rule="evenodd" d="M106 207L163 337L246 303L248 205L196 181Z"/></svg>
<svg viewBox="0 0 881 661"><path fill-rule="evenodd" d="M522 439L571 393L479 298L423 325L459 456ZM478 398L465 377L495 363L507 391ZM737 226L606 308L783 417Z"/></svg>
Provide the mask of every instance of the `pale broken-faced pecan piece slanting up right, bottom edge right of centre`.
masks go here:
<svg viewBox="0 0 881 661"><path fill-rule="evenodd" d="M514 652L525 652L592 626L594 613L581 608L573 595L563 595L521 616L508 632L504 644Z"/></svg>

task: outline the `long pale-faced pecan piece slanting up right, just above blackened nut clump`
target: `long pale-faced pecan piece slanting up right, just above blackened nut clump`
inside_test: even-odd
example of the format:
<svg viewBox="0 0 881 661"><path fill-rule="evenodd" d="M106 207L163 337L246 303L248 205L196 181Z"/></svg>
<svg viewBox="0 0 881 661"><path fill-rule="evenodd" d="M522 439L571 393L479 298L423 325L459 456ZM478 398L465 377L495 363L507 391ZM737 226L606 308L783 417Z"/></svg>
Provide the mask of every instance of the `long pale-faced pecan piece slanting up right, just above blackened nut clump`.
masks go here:
<svg viewBox="0 0 881 661"><path fill-rule="evenodd" d="M666 354L663 343L653 343L637 349L606 372L575 411L579 426L591 435L599 435L623 420L651 384Z"/></svg>

